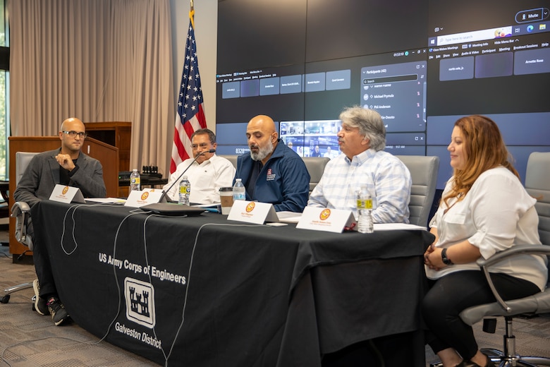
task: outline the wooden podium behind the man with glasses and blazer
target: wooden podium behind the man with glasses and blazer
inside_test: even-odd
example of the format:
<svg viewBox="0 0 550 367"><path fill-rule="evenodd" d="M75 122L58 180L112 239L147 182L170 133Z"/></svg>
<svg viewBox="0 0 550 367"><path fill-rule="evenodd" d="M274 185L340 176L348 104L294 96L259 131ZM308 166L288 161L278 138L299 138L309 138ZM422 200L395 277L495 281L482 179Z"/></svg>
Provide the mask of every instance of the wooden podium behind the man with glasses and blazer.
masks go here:
<svg viewBox="0 0 550 367"><path fill-rule="evenodd" d="M10 147L9 205L11 207L11 204L15 202L13 193L16 191L16 152L54 150L61 147L61 140L59 140L59 136L10 136L8 139ZM94 138L86 138L82 145L82 152L102 163L107 196L116 197L118 195L118 148ZM16 219L10 217L10 253L14 255L13 259L27 250L26 246L16 241L15 227ZM32 252L28 251L25 255L27 254L32 255Z"/></svg>

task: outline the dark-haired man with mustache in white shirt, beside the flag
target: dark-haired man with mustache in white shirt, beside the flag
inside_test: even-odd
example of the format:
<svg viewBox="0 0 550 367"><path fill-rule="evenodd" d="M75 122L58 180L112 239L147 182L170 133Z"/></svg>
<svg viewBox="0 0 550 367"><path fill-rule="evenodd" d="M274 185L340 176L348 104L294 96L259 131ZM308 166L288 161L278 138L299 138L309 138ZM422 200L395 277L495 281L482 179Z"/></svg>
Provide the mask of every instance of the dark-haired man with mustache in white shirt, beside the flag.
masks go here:
<svg viewBox="0 0 550 367"><path fill-rule="evenodd" d="M189 202L196 204L214 204L219 203L219 188L224 186L233 186L233 176L235 176L235 167L223 157L218 157L216 153L209 153L208 150L216 149L216 136L207 128L201 128L195 131L191 136L191 148L193 148L193 158L184 160L176 171L170 175L170 179L163 189L168 188L179 178L181 173L187 169L184 176L187 176L191 183L191 193ZM197 155L205 152L200 157ZM197 158L195 162L193 160ZM181 178L180 178L181 181ZM167 195L172 200L178 200L179 183L175 183Z"/></svg>

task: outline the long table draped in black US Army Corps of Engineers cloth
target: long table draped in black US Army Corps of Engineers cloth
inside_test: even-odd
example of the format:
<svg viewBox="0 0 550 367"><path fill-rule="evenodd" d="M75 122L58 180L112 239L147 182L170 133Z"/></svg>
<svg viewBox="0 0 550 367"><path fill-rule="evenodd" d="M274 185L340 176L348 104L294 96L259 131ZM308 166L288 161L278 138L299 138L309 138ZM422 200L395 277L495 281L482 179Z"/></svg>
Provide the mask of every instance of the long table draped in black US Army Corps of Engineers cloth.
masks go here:
<svg viewBox="0 0 550 367"><path fill-rule="evenodd" d="M50 200L31 216L75 323L162 365L352 366L359 353L367 366L425 366L428 231L331 233Z"/></svg>

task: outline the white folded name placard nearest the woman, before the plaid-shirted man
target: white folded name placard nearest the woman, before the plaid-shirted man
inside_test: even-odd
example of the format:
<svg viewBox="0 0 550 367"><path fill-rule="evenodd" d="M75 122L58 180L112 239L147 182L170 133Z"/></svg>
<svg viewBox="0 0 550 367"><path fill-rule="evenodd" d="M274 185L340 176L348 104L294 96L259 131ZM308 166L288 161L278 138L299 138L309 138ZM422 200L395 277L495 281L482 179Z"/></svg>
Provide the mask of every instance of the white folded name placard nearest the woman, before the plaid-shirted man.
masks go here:
<svg viewBox="0 0 550 367"><path fill-rule="evenodd" d="M351 210L305 207L296 228L342 233L344 229L354 229L356 223Z"/></svg>

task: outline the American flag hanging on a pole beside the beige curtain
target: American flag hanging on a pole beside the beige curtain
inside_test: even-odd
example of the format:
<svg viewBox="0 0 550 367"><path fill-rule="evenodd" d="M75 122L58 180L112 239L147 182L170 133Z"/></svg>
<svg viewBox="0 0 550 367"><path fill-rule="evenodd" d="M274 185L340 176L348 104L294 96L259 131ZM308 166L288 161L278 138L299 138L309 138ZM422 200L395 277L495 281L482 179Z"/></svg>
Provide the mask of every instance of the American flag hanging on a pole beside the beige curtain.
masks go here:
<svg viewBox="0 0 550 367"><path fill-rule="evenodd" d="M197 44L193 30L193 8L189 12L189 28L185 42L185 63L181 75L181 86L178 96L178 114L173 131L172 159L170 173L176 171L178 164L193 157L191 135L195 130L206 128L204 101L200 87L199 64L197 61Z"/></svg>

